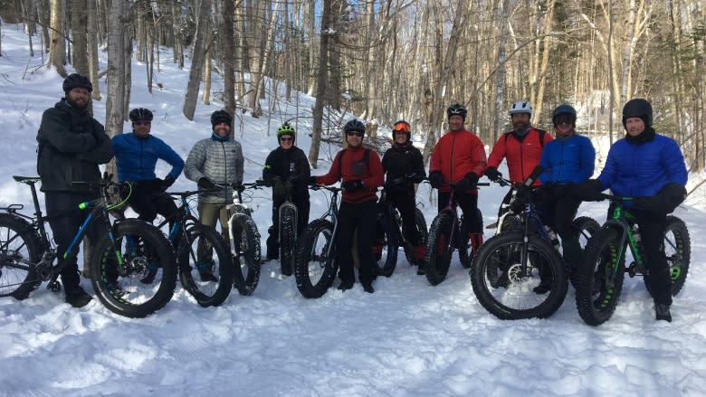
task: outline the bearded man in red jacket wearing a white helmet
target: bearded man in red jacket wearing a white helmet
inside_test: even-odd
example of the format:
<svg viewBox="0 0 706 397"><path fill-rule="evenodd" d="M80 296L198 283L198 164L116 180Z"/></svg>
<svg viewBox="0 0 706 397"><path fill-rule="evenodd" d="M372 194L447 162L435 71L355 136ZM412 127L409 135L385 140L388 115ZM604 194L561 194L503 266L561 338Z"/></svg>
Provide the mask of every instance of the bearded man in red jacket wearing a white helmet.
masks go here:
<svg viewBox="0 0 706 397"><path fill-rule="evenodd" d="M492 147L491 156L488 156L485 176L488 176L491 181L497 182L502 177L501 172L498 171L498 165L502 163L503 158L507 161L512 182L523 182L532 173L534 167L539 164L542 148L553 137L543 129L532 127L530 118L532 118L532 105L529 101L518 100L512 104L510 107L512 130L502 134ZM533 187L537 187L539 184L538 178ZM498 209L498 219L508 211L511 198L512 189L502 199Z"/></svg>

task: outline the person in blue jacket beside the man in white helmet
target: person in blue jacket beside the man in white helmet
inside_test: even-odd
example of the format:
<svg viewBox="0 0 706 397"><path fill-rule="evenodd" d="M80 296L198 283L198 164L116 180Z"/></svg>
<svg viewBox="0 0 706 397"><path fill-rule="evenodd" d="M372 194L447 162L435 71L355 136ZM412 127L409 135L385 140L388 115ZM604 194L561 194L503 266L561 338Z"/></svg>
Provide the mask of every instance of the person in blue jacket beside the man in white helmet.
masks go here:
<svg viewBox="0 0 706 397"><path fill-rule="evenodd" d="M539 165L544 168L539 175L542 185L536 193L537 202L543 210L542 222L552 227L561 238L564 260L575 268L581 259L578 236L571 230L581 200L572 190L575 184L586 181L593 175L596 150L591 140L576 132L577 111L563 104L552 112L552 123L556 138L542 150ZM534 288L538 294L551 289L551 279L543 277Z"/></svg>

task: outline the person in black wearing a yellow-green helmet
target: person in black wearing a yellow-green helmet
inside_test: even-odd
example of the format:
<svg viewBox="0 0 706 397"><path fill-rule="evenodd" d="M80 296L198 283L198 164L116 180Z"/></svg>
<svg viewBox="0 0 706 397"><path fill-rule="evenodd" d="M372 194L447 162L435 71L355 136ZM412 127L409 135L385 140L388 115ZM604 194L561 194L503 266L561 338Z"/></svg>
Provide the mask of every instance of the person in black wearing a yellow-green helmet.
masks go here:
<svg viewBox="0 0 706 397"><path fill-rule="evenodd" d="M277 128L277 142L280 146L270 152L262 170L262 180L272 186L272 226L268 229L267 259L279 259L280 205L287 194L297 207L297 233L301 234L309 222L309 187L311 175L309 160L304 152L294 146L296 132L288 123Z"/></svg>

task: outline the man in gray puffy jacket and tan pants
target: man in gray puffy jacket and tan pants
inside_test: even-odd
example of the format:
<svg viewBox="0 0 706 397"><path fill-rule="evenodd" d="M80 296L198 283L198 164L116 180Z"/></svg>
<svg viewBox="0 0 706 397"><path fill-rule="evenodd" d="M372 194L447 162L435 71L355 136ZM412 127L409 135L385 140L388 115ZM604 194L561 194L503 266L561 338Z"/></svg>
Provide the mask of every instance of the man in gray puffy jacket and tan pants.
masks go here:
<svg viewBox="0 0 706 397"><path fill-rule="evenodd" d="M232 201L232 187L243 184L243 147L229 135L232 122L228 112L216 110L211 115L213 134L196 142L184 167L186 178L195 181L200 189L209 190L198 197L199 221L215 227L216 220L220 220L225 241L229 240L225 205ZM197 256L201 279L216 281L213 247L200 245Z"/></svg>

